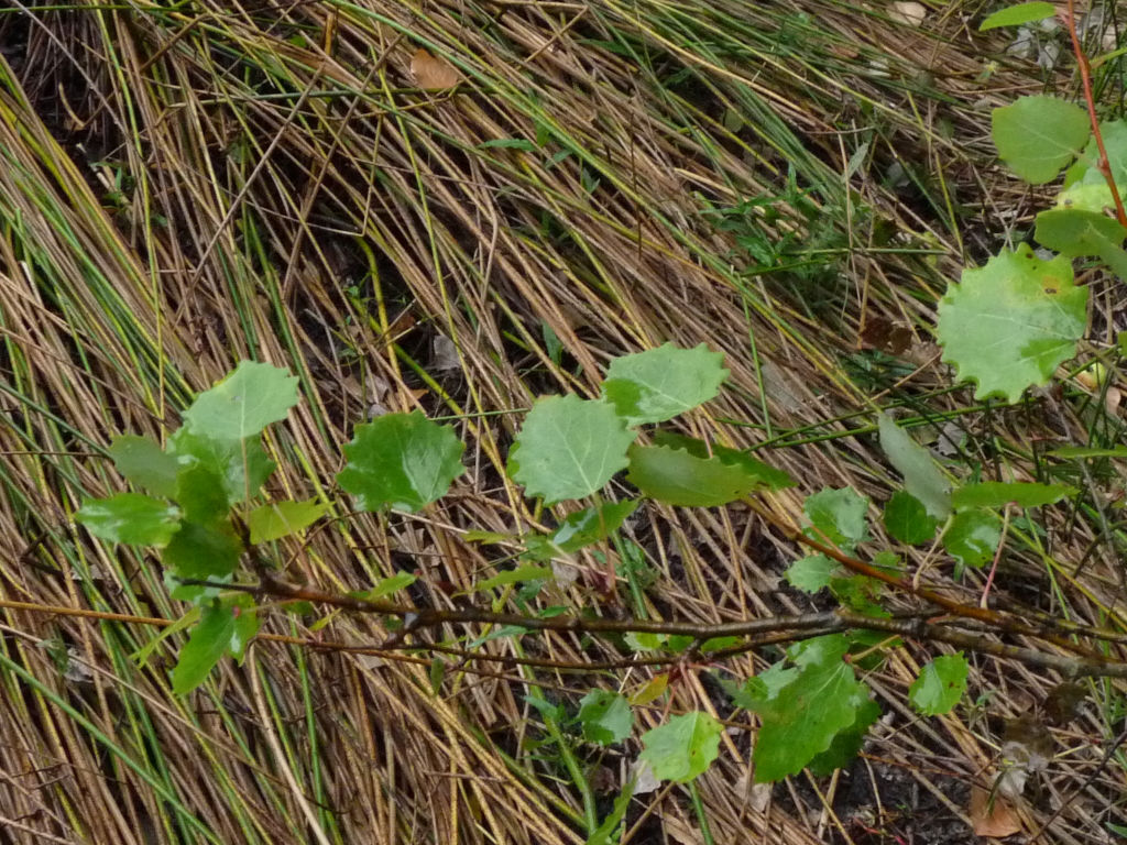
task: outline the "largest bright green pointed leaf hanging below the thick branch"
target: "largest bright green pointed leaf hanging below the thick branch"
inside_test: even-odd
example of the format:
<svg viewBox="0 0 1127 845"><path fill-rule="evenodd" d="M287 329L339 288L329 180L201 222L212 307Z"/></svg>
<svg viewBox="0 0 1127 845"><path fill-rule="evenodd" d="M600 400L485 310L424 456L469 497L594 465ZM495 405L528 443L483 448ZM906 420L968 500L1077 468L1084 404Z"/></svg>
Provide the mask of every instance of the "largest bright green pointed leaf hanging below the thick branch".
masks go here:
<svg viewBox="0 0 1127 845"><path fill-rule="evenodd" d="M859 711L868 706L869 690L843 660L848 651L844 634L816 637L788 651L797 675L754 702L763 721L753 754L756 782L797 774L863 721Z"/></svg>

